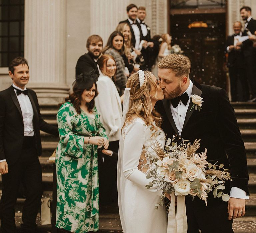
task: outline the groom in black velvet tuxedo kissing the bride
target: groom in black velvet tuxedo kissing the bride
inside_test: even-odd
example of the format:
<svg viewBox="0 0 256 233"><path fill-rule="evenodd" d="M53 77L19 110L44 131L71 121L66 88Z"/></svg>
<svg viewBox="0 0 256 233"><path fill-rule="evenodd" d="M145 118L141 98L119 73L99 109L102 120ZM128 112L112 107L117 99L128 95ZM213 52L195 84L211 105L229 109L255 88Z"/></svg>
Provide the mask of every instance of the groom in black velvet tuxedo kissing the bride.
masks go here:
<svg viewBox="0 0 256 233"><path fill-rule="evenodd" d="M245 199L249 199L246 152L237 120L225 90L192 83L189 79L190 60L183 55L171 54L158 63L158 77L164 100L156 110L162 115L162 128L167 138L181 137L194 142L201 139L198 152L207 148L207 160L223 163L230 169L232 181L225 182L224 193L230 200L222 201L209 193L208 206L199 198L186 197L188 232L225 232L232 230L233 219L245 214ZM191 95L203 101L199 111ZM190 111L191 110L191 111Z"/></svg>

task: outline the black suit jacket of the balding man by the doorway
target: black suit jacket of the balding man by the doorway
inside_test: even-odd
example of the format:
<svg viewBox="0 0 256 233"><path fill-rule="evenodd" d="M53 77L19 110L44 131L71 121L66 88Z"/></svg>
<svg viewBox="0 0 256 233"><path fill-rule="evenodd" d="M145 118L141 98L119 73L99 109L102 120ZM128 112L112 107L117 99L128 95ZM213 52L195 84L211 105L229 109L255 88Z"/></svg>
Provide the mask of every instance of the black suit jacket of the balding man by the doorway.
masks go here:
<svg viewBox="0 0 256 233"><path fill-rule="evenodd" d="M226 41L226 48L230 45L234 45L234 37L235 34L232 36L228 36ZM228 52L228 68L232 67L240 67L244 68L244 56L242 50L231 50Z"/></svg>

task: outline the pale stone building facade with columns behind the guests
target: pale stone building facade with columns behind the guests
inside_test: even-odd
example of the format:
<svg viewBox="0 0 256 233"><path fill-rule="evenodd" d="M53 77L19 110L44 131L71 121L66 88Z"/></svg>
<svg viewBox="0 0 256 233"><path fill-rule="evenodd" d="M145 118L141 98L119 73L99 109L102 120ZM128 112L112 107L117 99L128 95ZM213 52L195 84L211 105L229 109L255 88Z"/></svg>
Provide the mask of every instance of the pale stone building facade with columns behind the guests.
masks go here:
<svg viewBox="0 0 256 233"><path fill-rule="evenodd" d="M103 46L119 21L127 18L126 6L145 6L151 35L168 32L168 0L25 0L24 57L30 67L29 88L39 102L58 104L69 93L77 59L87 52L92 34L103 38ZM231 34L239 9L255 0L228 0L226 28ZM8 68L0 68L0 90L11 85Z"/></svg>

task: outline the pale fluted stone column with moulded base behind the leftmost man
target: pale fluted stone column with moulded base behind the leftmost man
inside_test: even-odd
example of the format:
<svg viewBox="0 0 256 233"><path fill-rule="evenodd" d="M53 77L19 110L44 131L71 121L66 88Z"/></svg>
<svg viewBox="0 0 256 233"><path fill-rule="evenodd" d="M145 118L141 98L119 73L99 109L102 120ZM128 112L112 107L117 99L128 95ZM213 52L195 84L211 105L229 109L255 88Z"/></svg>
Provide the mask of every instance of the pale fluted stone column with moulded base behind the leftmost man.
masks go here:
<svg viewBox="0 0 256 233"><path fill-rule="evenodd" d="M66 84L66 0L25 0L24 56L30 68L28 87L39 104L58 104Z"/></svg>

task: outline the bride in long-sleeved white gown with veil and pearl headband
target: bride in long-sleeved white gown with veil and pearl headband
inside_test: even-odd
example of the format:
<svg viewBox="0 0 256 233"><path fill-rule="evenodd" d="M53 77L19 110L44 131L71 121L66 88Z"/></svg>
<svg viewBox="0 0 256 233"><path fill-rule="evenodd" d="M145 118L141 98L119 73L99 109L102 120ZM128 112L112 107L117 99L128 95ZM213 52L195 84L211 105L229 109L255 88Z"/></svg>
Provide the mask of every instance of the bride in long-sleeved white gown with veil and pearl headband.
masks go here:
<svg viewBox="0 0 256 233"><path fill-rule="evenodd" d="M122 136L117 168L119 214L124 233L166 233L167 213L164 206L155 209L161 190L147 189L149 157L157 157L151 148L158 141L164 146L161 118L155 103L164 98L157 78L149 71L139 70L130 76L124 94ZM155 123L153 123L155 122ZM151 126L151 127L148 127ZM151 129L150 129L151 128ZM170 199L169 194L167 198Z"/></svg>

